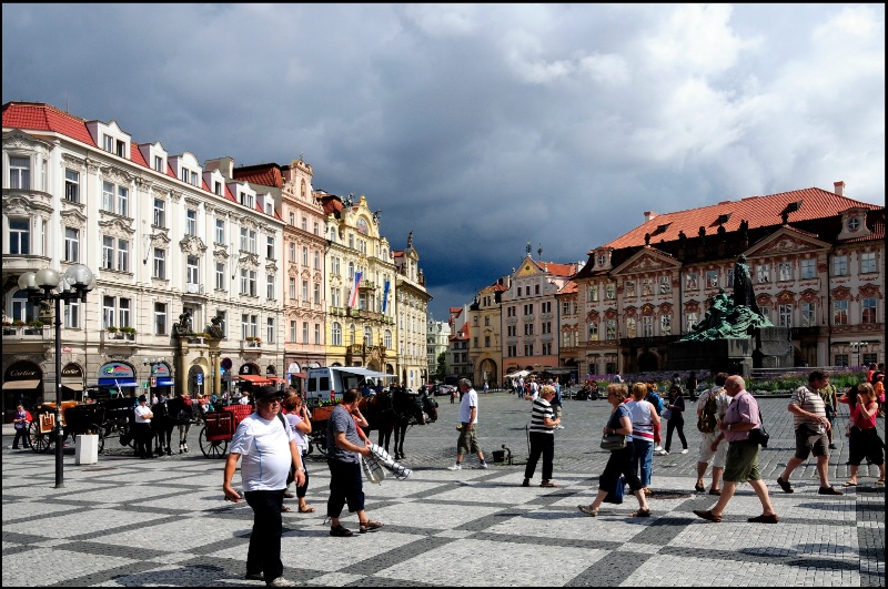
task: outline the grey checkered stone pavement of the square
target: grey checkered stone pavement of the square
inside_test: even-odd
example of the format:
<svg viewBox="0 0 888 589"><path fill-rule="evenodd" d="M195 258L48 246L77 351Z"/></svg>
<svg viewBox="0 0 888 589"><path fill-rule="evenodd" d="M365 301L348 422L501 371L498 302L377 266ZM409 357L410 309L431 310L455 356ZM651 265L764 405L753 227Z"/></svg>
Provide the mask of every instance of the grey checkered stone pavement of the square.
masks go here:
<svg viewBox="0 0 888 589"><path fill-rule="evenodd" d="M523 426L512 412L529 413L512 396L494 397L481 402L487 407L480 434L490 449ZM385 524L374 534L329 536L329 473L323 461L309 460L307 499L317 511L299 514L295 499L287 500L294 510L283 516L284 577L360 587L885 586L885 488L875 485L875 466L861 467L860 485L846 495L820 496L811 460L793 476L796 492L784 494L774 479L791 454L791 424L787 431L781 419L769 420L774 449L761 460L777 525L746 521L760 512L748 485L720 524L694 516L716 498L693 491L689 428L688 455L655 459L650 518L630 517L637 508L630 495L623 505L604 504L597 518L581 514L576 506L592 501L607 458L587 440L572 449L571 436L587 437L568 431L583 412L604 423L606 407L592 403L565 406L555 488L538 487L539 467L528 488L519 486L522 465L478 470L467 457L462 470L446 470L456 431L450 404L441 404L438 424L408 434L414 439L406 446L415 451L404 464L413 476L365 484L367 512ZM495 437L497 427L503 438ZM98 464L75 466L68 454L65 486L56 489L51 451L11 450L11 436L3 441L3 586L262 586L243 580L252 510L223 500L222 460L193 450L159 460L109 451ZM511 444L521 448L521 436ZM831 460L837 485L844 460L840 454ZM342 521L357 531L354 515L343 514Z"/></svg>

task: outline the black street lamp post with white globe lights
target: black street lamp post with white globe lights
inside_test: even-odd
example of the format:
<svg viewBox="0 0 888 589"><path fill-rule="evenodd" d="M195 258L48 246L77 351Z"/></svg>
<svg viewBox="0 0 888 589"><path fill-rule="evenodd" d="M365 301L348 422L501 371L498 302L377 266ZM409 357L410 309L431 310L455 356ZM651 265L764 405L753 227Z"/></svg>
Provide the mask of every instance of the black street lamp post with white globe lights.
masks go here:
<svg viewBox="0 0 888 589"><path fill-rule="evenodd" d="M62 430L62 301L87 302L87 293L95 287L95 276L83 264L73 264L63 276L52 268L26 272L19 276L19 288L28 293L32 304L56 302L56 488L64 487L64 433Z"/></svg>

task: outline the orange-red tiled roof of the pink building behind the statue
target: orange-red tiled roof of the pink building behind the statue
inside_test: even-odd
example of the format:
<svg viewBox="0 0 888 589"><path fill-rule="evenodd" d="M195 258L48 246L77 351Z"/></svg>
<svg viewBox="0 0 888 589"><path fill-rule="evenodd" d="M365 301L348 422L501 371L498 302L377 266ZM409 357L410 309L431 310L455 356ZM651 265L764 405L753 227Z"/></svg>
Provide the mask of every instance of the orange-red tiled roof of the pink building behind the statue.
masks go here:
<svg viewBox="0 0 888 589"><path fill-rule="evenodd" d="M730 215L724 222L728 233L739 230L740 221L747 221L750 230L781 225L780 213L784 212L787 204L796 202L801 202L801 207L789 213L789 223L834 216L852 206L879 209L875 204L854 201L846 196L839 196L835 192L803 189L767 196L749 196L739 201L724 201L688 211L657 214L650 221L605 244L605 247L618 250L644 245L646 233L650 234L652 245L656 245L660 241L678 240L679 232L684 232L687 237L697 237L700 226L706 230L706 235L715 235L718 231L718 219L722 215ZM593 252L594 250L589 254Z"/></svg>

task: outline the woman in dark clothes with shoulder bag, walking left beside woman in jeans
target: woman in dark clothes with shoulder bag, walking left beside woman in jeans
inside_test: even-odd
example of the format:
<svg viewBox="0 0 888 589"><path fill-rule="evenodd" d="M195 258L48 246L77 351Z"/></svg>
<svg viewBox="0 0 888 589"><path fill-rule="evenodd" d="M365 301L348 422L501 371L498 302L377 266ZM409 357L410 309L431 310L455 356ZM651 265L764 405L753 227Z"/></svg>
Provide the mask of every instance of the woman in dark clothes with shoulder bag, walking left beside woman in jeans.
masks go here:
<svg viewBox="0 0 888 589"><path fill-rule="evenodd" d="M605 436L632 436L632 417L629 416L629 409L623 404L627 395L626 385L607 385L607 403L610 404L612 410L610 418L604 427L603 434ZM578 505L577 509L587 516L596 517L598 507L604 501L604 498L607 497L608 489L616 488L619 476L623 475L633 495L638 499L638 510L633 512L633 517L650 517L650 508L645 498L644 486L633 469L634 453L632 444L626 444L620 449L610 450L607 465L604 467L602 476L598 477L598 495L592 501L592 505Z"/></svg>

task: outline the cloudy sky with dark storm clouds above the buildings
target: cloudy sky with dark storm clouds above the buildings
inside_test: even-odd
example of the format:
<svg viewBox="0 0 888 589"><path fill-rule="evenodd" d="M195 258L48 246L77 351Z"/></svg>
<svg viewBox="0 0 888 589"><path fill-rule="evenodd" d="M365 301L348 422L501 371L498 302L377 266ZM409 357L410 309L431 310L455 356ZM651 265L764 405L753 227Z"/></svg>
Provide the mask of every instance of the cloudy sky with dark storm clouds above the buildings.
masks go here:
<svg viewBox="0 0 888 589"><path fill-rule="evenodd" d="M3 103L364 194L445 319L670 212L885 204L882 4L9 4Z"/></svg>

